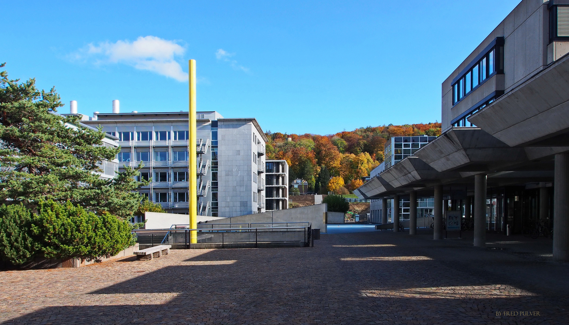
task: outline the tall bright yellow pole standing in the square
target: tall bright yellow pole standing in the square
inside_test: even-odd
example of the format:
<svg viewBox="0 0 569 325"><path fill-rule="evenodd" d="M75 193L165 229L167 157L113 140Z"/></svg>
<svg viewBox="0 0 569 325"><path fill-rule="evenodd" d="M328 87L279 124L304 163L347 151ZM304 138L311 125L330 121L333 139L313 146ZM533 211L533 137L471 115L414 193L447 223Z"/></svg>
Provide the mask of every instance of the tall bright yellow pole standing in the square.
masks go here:
<svg viewBox="0 0 569 325"><path fill-rule="evenodd" d="M196 160L196 60L189 60L189 228L197 229L197 160ZM190 231L189 243L197 243L197 231Z"/></svg>

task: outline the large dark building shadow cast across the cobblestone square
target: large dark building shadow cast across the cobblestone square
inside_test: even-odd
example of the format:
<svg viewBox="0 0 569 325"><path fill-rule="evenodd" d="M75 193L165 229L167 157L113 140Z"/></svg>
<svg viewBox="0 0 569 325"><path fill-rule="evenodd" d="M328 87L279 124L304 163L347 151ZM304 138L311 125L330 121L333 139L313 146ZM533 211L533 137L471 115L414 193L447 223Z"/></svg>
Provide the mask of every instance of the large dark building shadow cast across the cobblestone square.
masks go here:
<svg viewBox="0 0 569 325"><path fill-rule="evenodd" d="M566 324L569 319L566 306L542 294L453 267L445 256L464 255L460 249L435 252L374 233L323 236L316 246L216 249L172 259L179 265L87 294L140 297L140 304L47 306L1 324ZM472 266L480 256L486 255L463 260ZM152 294L165 293L176 296L152 303ZM496 315L504 311L532 314Z"/></svg>

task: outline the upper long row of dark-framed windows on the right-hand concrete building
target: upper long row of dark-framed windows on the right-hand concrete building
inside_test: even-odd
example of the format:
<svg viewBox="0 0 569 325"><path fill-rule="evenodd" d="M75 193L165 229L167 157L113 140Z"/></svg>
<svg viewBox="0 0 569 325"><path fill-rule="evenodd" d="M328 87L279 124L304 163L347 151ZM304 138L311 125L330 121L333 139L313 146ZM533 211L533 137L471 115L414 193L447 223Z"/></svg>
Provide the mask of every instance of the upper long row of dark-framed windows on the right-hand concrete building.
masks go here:
<svg viewBox="0 0 569 325"><path fill-rule="evenodd" d="M496 72L496 47L492 48L471 69L468 70L455 84L452 85L452 105L455 105L478 85Z"/></svg>

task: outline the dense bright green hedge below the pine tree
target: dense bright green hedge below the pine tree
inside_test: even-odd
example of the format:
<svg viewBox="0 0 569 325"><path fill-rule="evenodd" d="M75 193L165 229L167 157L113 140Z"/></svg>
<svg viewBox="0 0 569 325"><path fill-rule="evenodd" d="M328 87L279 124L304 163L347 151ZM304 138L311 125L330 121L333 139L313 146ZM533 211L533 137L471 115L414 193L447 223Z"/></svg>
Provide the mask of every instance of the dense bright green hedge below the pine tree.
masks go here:
<svg viewBox="0 0 569 325"><path fill-rule="evenodd" d="M70 202L40 202L38 214L21 203L2 205L0 217L0 259L12 264L35 256L112 256L134 244L125 220L108 213L96 215Z"/></svg>

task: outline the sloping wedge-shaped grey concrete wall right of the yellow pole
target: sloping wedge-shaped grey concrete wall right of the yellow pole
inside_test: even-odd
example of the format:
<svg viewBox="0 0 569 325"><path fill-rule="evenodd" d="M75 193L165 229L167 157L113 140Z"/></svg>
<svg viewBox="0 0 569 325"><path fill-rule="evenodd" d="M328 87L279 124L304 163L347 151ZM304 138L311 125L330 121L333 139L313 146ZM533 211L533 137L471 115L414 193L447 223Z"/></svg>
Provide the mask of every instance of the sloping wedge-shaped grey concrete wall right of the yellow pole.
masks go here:
<svg viewBox="0 0 569 325"><path fill-rule="evenodd" d="M222 218L216 220L208 220L202 222L205 224L219 223L284 223L284 222L310 222L312 228L320 228L320 232L327 232L324 223L324 213L327 211L326 203L318 205L310 205L303 207L294 207L292 209L269 211L257 214L248 214L233 216L231 218ZM150 229L150 227L146 227Z"/></svg>

